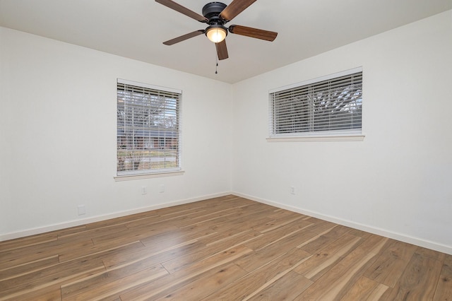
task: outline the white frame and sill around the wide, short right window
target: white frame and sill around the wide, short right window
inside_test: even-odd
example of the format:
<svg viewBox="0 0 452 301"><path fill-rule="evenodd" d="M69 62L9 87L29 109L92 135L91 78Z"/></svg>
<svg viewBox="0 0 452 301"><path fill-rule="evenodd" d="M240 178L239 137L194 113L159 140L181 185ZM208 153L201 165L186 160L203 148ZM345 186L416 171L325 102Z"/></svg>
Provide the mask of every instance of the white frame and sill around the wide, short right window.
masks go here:
<svg viewBox="0 0 452 301"><path fill-rule="evenodd" d="M269 142L295 142L295 141L363 141L364 134L362 132L362 117L361 112L361 127L359 129L341 129L341 130L327 130L327 131L293 131L289 133L276 133L275 119L274 119L274 98L275 93L283 91L289 91L292 89L309 88L311 85L316 85L321 82L331 81L335 78L341 78L344 76L351 76L354 73L362 73L362 67L341 71L338 73L332 73L328 76L321 76L319 78L312 78L308 81L302 81L299 83L293 83L291 85L285 85L280 88L275 88L268 91L268 132L269 136L267 141ZM361 87L362 88L362 87ZM361 89L362 90L362 89ZM361 91L361 110L362 110L362 91ZM309 114L314 112L309 111Z"/></svg>

